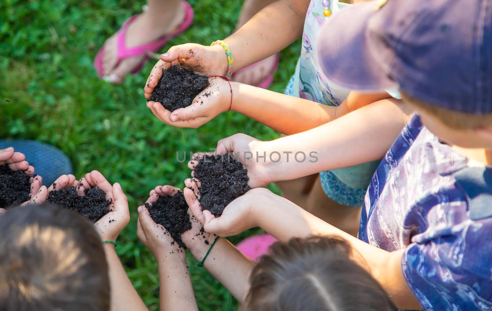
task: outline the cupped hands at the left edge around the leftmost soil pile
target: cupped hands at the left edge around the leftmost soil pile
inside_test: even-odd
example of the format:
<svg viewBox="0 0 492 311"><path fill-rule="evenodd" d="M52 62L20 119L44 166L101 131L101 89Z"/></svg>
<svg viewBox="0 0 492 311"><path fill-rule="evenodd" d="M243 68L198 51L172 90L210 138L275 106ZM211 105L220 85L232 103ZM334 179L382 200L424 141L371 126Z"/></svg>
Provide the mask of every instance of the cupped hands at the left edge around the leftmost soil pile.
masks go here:
<svg viewBox="0 0 492 311"><path fill-rule="evenodd" d="M6 149L0 149L0 165L8 164L13 171L24 171L26 176L31 176L34 173L34 167L29 165L25 161L26 156L20 152L14 152L14 148L9 147ZM27 205L29 203L42 203L46 200L48 192L43 185L43 178L41 176L31 177L29 182L31 183L31 199L22 203ZM5 209L0 208L0 215L5 212Z"/></svg>

